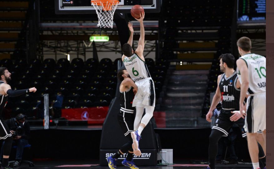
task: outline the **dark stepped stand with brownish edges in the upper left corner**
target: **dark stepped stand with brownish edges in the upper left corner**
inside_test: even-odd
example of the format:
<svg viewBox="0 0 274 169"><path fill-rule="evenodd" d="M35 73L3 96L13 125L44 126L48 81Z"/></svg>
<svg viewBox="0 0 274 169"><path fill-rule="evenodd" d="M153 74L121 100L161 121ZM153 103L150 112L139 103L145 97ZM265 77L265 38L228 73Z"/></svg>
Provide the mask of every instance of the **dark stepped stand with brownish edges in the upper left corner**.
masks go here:
<svg viewBox="0 0 274 169"><path fill-rule="evenodd" d="M28 1L1 1L0 59L10 59L16 49L26 48L26 33L22 31L22 28L28 6Z"/></svg>

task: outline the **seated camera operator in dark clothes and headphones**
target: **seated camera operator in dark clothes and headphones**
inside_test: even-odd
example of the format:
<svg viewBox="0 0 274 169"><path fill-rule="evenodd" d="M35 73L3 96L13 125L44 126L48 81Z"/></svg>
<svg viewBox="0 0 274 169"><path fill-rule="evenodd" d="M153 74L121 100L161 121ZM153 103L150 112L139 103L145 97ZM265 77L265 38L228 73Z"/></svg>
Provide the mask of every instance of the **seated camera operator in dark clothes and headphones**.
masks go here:
<svg viewBox="0 0 274 169"><path fill-rule="evenodd" d="M8 128L13 136L13 144L17 145L16 158L13 163L13 167L20 166L20 160L22 160L22 154L24 146L28 144L28 139L30 138L30 126L26 121L26 116L22 113L18 114L15 118L6 121ZM3 142L4 144L4 142ZM2 145L3 145L2 144ZM1 148L0 160L3 157L3 146Z"/></svg>

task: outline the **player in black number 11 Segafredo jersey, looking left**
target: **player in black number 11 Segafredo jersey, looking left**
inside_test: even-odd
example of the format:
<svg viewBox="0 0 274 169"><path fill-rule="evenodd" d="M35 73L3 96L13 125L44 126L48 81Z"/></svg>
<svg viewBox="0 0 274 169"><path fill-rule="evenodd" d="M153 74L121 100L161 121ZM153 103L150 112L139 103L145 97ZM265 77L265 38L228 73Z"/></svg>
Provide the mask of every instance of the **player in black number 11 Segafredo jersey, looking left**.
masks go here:
<svg viewBox="0 0 274 169"><path fill-rule="evenodd" d="M239 126L242 136L246 136L246 131L244 130L245 121L241 118L240 113L237 113L240 107L239 99L241 83L236 71L234 70L235 58L232 54L222 54L219 59L220 70L223 74L218 76L216 93L206 115L207 121L211 122L212 111L216 108L219 101L222 101L222 109L209 136L208 169L215 169L215 158L218 153L218 141L222 136L226 137L228 135L228 131L231 129L233 123L236 123ZM261 146L259 145L259 147ZM262 147L260 149L261 154L263 153Z"/></svg>

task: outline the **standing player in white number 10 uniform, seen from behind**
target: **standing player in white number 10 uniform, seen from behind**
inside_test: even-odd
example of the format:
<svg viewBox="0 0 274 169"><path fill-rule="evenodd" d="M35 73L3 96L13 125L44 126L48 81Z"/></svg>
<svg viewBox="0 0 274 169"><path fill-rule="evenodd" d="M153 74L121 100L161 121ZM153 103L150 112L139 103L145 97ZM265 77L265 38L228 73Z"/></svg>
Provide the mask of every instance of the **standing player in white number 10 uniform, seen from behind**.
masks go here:
<svg viewBox="0 0 274 169"><path fill-rule="evenodd" d="M251 53L251 40L248 37L241 37L237 46L241 54L236 62L241 82L240 113L242 118L246 115L248 150L253 168L260 169L257 141L266 154L266 58ZM246 94L250 96L244 106ZM259 130L263 134L257 134Z"/></svg>

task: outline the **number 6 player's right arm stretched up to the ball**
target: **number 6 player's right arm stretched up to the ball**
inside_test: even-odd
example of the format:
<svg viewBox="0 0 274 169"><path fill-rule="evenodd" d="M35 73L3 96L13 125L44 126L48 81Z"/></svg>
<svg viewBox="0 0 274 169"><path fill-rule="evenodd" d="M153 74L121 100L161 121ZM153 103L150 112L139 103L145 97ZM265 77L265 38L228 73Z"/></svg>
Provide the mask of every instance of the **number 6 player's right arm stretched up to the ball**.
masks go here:
<svg viewBox="0 0 274 169"><path fill-rule="evenodd" d="M145 18L145 13L142 13L142 15L140 14L139 19L135 18L137 21L140 22L140 38L138 41L138 47L135 52L143 60L145 60L143 57L143 51L144 51L144 47L145 47L145 28L144 28L144 23L143 23L144 18Z"/></svg>

